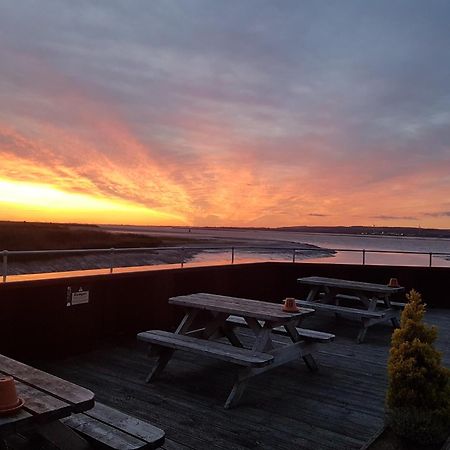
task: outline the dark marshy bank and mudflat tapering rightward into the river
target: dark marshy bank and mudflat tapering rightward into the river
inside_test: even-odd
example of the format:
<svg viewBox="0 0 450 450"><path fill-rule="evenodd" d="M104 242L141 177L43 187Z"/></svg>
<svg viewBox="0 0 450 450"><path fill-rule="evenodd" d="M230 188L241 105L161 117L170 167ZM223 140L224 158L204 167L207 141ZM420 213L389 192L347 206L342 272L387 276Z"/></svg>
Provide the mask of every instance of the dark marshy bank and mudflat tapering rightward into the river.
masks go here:
<svg viewBox="0 0 450 450"><path fill-rule="evenodd" d="M151 235L143 228L113 227L111 229L95 225L45 224L28 222L0 222L0 251L46 251L58 250L58 254L10 255L8 274L66 272L73 270L103 269L114 267L138 267L187 263L205 251L223 253L235 247L251 247L253 253L264 253L271 247L299 248L298 243L279 242L270 239L223 238L196 236L196 233L175 233L161 237ZM310 257L310 250L317 250L315 257L331 256L334 252L311 244L302 244L304 252L297 258ZM140 251L140 248L151 250ZM85 250L83 253L64 253L65 250ZM104 252L96 250L105 250ZM116 249L116 251L109 251ZM124 249L120 251L120 249ZM125 249L136 249L126 251ZM117 251L119 250L119 251Z"/></svg>

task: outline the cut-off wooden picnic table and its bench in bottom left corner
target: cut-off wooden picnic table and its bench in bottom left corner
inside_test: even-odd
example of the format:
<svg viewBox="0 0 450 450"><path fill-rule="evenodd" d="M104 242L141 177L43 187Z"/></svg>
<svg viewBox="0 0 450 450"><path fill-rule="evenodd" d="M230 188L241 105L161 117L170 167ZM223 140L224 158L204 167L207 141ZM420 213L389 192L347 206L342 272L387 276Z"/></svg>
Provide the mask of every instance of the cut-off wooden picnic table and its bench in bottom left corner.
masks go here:
<svg viewBox="0 0 450 450"><path fill-rule="evenodd" d="M0 355L0 376L12 376L23 407L0 415L0 448L38 434L61 449L89 449L89 442L116 450L154 449L164 431L101 403L93 392L42 370ZM75 430L76 433L73 431Z"/></svg>

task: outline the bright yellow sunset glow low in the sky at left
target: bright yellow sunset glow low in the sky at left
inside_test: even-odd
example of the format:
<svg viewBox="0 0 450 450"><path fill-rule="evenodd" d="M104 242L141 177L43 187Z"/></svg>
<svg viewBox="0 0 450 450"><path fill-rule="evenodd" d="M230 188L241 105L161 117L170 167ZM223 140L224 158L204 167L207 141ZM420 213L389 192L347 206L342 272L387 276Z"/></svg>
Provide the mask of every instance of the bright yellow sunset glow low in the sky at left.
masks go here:
<svg viewBox="0 0 450 450"><path fill-rule="evenodd" d="M65 192L45 183L0 179L2 220L76 221L80 223L186 224L175 214L123 200Z"/></svg>

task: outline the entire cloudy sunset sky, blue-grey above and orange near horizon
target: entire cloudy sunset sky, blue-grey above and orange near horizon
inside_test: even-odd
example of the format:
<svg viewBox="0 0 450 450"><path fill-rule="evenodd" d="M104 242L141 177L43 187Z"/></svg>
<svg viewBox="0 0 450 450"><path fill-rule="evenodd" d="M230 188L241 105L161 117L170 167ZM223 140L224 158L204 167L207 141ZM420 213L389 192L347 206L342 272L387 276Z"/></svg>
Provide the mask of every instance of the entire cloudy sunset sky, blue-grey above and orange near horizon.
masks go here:
<svg viewBox="0 0 450 450"><path fill-rule="evenodd" d="M450 2L0 0L0 220L450 228Z"/></svg>

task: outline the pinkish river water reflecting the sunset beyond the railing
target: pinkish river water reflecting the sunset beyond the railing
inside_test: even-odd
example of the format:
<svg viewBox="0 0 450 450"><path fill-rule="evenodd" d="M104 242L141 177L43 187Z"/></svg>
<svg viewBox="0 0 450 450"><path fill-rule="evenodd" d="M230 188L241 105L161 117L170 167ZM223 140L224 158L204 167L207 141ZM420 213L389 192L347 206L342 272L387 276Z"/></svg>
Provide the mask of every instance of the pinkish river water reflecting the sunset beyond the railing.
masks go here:
<svg viewBox="0 0 450 450"><path fill-rule="evenodd" d="M124 227L127 228L127 227ZM429 253L446 253L433 255L432 266L450 267L450 239L417 238L405 236L369 236L343 235L331 233L303 233L293 231L246 230L246 229L183 229L171 227L140 227L124 231L151 234L154 236L171 236L178 238L205 240L211 246L226 246L227 250L205 250L198 253L191 261L194 263L230 262L231 247L235 247L234 262L254 261L292 261L293 248L302 244L310 244L320 249L342 249L335 254L313 251L302 251L296 254L296 261L308 259L310 262L332 262L362 264L363 252L365 264L429 266ZM203 244L204 245L204 244ZM270 250L240 249L239 246L267 246ZM276 250L290 247L288 250ZM275 249L275 250L274 250ZM424 254L400 254L384 252L421 252Z"/></svg>

